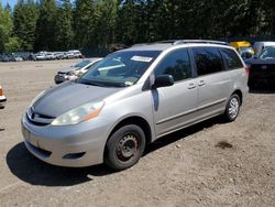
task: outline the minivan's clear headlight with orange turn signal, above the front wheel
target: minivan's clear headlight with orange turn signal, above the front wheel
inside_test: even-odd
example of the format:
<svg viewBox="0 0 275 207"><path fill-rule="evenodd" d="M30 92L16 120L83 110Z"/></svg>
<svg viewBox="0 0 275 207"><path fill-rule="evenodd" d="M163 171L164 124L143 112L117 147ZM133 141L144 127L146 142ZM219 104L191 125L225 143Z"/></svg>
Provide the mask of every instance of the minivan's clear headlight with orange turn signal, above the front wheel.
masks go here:
<svg viewBox="0 0 275 207"><path fill-rule="evenodd" d="M90 102L72 109L65 112L64 115L57 117L52 122L52 126L70 126L82 121L88 121L100 113L103 105L103 101Z"/></svg>

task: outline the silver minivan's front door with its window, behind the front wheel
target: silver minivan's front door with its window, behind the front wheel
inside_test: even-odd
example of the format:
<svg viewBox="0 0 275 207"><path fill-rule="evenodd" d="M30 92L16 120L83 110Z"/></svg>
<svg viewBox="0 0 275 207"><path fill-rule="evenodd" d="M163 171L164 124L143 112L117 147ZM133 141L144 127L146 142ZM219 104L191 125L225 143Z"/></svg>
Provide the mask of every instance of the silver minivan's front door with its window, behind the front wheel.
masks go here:
<svg viewBox="0 0 275 207"><path fill-rule="evenodd" d="M198 88L187 48L168 53L154 76L172 75L175 84L152 90L156 137L165 135L196 120Z"/></svg>

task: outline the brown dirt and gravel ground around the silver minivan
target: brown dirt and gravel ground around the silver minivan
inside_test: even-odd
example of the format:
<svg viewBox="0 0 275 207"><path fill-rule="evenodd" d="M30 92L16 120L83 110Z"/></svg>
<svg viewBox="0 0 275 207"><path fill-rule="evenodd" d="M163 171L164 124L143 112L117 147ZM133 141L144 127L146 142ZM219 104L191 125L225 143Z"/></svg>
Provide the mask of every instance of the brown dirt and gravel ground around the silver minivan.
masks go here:
<svg viewBox="0 0 275 207"><path fill-rule="evenodd" d="M0 63L9 99L0 110L1 207L275 206L275 92L251 92L235 122L215 118L161 139L123 172L57 167L32 156L21 117L72 63Z"/></svg>

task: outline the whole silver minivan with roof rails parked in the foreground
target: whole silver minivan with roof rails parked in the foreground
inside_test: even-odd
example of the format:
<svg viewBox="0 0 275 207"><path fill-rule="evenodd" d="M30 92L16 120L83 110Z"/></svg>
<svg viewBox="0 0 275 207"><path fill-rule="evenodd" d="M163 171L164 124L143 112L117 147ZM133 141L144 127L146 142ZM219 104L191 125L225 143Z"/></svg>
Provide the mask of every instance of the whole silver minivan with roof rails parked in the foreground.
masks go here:
<svg viewBox="0 0 275 207"><path fill-rule="evenodd" d="M22 119L24 143L54 165L124 170L165 134L215 116L235 120L248 91L244 63L223 42L140 44L41 92Z"/></svg>

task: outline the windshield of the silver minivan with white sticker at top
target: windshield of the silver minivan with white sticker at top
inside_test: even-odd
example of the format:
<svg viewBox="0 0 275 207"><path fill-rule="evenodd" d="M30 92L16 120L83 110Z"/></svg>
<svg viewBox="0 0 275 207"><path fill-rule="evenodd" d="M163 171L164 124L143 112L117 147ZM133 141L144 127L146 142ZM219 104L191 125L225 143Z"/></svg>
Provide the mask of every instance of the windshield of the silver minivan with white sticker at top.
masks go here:
<svg viewBox="0 0 275 207"><path fill-rule="evenodd" d="M113 53L84 74L78 81L98 86L132 86L140 79L160 53L160 51Z"/></svg>

